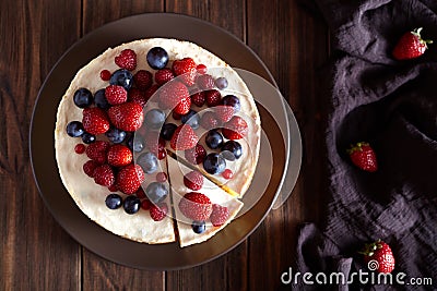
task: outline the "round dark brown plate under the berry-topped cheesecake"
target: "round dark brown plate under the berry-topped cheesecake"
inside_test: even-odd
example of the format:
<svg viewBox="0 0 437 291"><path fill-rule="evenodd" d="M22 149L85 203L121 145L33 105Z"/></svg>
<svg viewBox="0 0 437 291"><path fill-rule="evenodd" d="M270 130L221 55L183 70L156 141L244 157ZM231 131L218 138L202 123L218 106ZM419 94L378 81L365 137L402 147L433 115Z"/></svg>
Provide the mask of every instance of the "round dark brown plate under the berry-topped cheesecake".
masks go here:
<svg viewBox="0 0 437 291"><path fill-rule="evenodd" d="M37 98L31 125L31 159L40 195L57 221L90 251L109 260L142 269L180 269L203 264L228 252L244 241L272 207L284 180L288 158L288 132L283 136L276 114L286 120L285 110L269 111L259 106L262 126L272 144L273 172L257 204L211 240L181 248L178 242L161 245L137 243L117 237L90 220L75 205L58 174L55 158L55 123L58 104L75 73L108 47L150 37L193 41L233 66L251 71L274 84L261 60L239 39L208 22L178 14L152 13L109 23L83 37L57 62ZM276 98L272 101L283 100ZM276 142L279 141L279 142ZM260 157L262 160L262 156ZM262 172L262 171L260 171ZM257 191L250 187L245 197Z"/></svg>

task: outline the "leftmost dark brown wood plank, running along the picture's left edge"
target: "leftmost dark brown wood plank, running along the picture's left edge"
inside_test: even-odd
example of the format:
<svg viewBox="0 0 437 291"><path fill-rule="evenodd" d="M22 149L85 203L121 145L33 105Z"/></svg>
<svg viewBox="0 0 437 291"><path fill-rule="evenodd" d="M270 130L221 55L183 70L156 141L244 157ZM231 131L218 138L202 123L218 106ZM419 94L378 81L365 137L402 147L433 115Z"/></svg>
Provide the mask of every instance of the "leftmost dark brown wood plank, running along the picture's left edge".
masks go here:
<svg viewBox="0 0 437 291"><path fill-rule="evenodd" d="M28 128L38 89L78 39L78 1L13 1L0 10L0 289L79 290L80 246L44 206Z"/></svg>

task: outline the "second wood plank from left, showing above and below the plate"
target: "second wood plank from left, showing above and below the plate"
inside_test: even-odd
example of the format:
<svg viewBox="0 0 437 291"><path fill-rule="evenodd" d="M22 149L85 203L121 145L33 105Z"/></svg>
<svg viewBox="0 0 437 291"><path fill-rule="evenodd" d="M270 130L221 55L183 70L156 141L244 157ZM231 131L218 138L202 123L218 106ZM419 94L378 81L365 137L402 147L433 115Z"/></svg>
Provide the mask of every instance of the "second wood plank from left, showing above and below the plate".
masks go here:
<svg viewBox="0 0 437 291"><path fill-rule="evenodd" d="M147 12L163 12L164 1L83 1L83 34L105 23ZM164 290L165 272L128 268L83 248L83 290Z"/></svg>

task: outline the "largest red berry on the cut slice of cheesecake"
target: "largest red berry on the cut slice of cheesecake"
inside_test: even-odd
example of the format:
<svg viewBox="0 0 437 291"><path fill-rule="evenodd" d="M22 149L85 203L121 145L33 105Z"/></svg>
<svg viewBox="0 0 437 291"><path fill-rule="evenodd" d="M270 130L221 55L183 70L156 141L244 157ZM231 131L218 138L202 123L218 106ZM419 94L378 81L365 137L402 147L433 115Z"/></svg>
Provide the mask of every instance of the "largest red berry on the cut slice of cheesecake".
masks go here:
<svg viewBox="0 0 437 291"><path fill-rule="evenodd" d="M210 198L198 192L185 194L178 206L182 215L192 220L206 220L210 218L212 213Z"/></svg>

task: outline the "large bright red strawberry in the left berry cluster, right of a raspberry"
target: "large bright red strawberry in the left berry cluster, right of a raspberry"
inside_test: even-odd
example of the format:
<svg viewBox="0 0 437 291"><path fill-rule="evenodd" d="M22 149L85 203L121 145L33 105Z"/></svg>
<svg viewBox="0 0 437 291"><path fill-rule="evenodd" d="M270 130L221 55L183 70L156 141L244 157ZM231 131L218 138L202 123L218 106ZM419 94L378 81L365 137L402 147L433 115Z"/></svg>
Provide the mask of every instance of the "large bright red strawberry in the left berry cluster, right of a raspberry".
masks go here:
<svg viewBox="0 0 437 291"><path fill-rule="evenodd" d="M143 109L137 102L125 102L108 109L110 122L120 130L133 132L143 124Z"/></svg>

